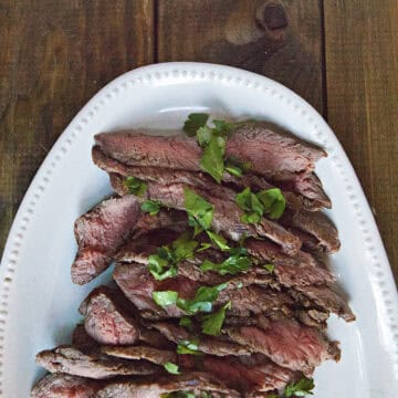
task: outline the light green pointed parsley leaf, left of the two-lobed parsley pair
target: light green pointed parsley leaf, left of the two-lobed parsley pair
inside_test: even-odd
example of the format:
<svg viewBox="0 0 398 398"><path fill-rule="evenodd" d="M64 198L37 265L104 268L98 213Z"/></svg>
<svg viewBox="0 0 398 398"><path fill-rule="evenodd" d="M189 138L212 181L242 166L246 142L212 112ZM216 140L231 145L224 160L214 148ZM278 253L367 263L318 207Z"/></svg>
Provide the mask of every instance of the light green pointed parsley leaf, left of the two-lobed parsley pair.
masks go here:
<svg viewBox="0 0 398 398"><path fill-rule="evenodd" d="M188 224L195 228L195 235L211 227L214 207L189 188L184 188Z"/></svg>

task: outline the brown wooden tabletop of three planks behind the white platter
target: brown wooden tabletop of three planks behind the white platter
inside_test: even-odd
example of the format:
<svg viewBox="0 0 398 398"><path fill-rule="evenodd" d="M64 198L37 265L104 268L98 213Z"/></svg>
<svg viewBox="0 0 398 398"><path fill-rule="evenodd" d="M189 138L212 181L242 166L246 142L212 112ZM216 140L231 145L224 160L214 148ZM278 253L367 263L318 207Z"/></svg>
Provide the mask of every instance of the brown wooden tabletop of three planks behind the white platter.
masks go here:
<svg viewBox="0 0 398 398"><path fill-rule="evenodd" d="M38 167L77 111L139 65L239 66L328 121L398 279L397 0L0 0L0 249Z"/></svg>

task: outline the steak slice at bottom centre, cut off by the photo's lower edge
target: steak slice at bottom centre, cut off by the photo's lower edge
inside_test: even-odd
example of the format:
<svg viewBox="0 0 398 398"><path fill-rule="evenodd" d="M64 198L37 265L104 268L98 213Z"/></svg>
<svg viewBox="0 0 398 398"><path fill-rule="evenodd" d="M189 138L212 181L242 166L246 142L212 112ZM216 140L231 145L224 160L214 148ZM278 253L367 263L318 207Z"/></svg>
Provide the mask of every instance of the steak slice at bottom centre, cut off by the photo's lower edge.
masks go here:
<svg viewBox="0 0 398 398"><path fill-rule="evenodd" d="M101 389L96 398L159 398L167 392L191 391L193 394L210 392L211 397L220 396L239 398L240 394L232 390L212 375L199 371L179 376L164 376L158 379L125 380L109 383Z"/></svg>

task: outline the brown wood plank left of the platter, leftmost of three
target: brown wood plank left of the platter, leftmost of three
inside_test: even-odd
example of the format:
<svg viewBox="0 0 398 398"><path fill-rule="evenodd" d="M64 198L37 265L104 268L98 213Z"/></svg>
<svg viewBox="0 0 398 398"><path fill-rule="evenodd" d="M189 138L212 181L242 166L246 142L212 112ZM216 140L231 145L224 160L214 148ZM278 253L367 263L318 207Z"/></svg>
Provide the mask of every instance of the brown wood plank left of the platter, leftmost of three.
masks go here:
<svg viewBox="0 0 398 398"><path fill-rule="evenodd" d="M153 0L0 3L0 250L54 140L107 82L154 61Z"/></svg>

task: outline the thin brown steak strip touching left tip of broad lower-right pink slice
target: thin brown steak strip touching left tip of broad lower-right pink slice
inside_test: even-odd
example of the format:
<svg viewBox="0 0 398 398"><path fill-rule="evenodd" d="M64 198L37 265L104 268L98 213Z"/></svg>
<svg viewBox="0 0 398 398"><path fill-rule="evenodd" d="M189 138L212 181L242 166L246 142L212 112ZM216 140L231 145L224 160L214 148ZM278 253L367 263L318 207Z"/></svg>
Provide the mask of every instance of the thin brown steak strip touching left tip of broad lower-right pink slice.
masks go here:
<svg viewBox="0 0 398 398"><path fill-rule="evenodd" d="M153 322L150 325L172 343L179 344L184 341L196 342L200 353L216 356L239 356L249 355L251 353L249 348L229 339L188 332L186 328L177 326L171 322Z"/></svg>

